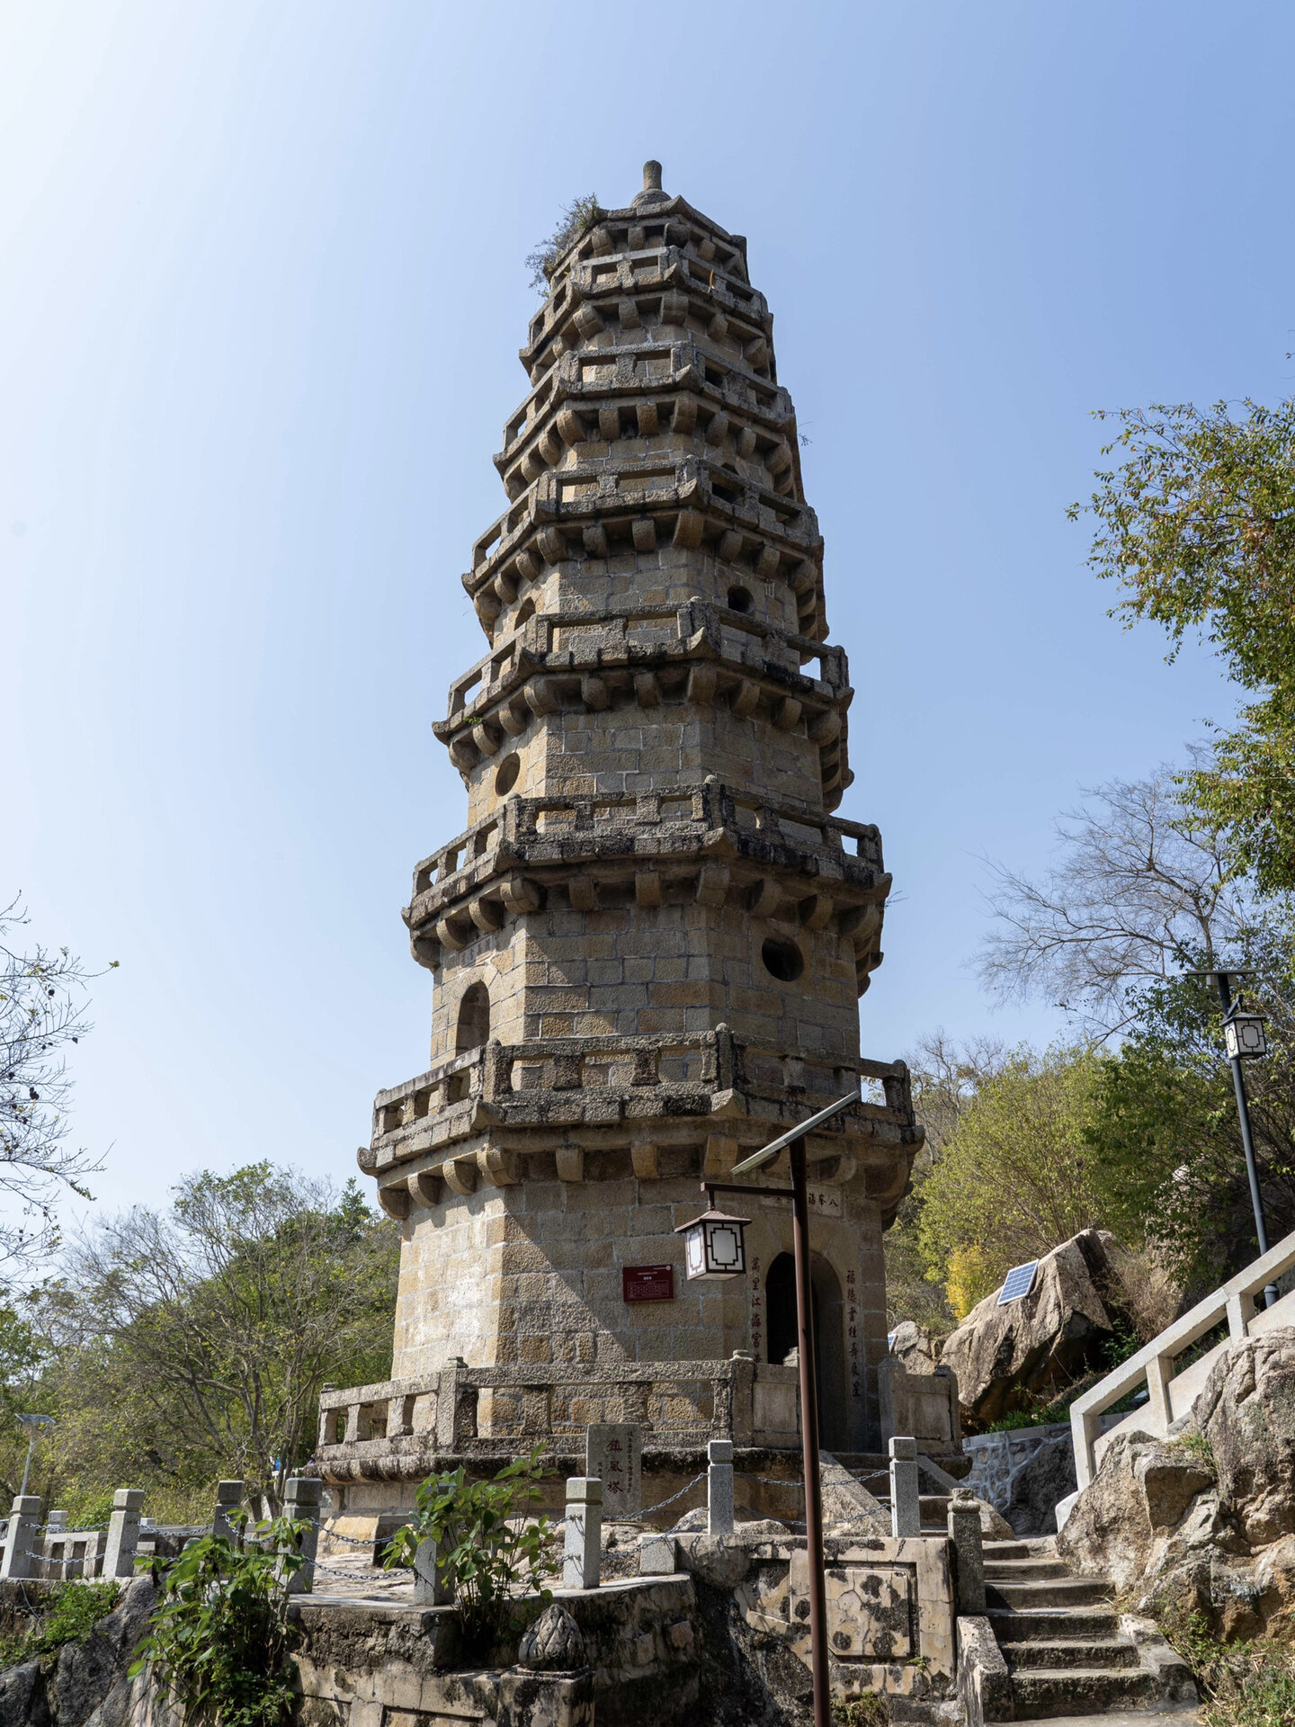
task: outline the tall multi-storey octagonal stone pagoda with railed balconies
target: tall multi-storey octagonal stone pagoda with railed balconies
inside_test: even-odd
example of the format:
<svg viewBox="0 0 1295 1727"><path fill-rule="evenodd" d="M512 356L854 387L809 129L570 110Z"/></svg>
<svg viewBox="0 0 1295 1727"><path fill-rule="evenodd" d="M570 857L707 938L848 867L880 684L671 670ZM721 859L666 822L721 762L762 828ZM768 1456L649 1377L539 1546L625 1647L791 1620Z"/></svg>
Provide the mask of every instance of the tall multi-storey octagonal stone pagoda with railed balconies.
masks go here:
<svg viewBox="0 0 1295 1727"><path fill-rule="evenodd" d="M468 826L402 914L428 1067L359 1154L404 1233L394 1378L325 1394L335 1485L578 1454L603 1420L642 1423L646 1466L794 1447L789 1207L744 1207L730 1281L689 1283L675 1226L853 1090L808 1145L822 1435L879 1444L881 1237L922 1133L903 1062L858 1053L891 877L832 813L853 689L772 330L746 240L656 162L553 263L463 577L487 653L435 725Z"/></svg>

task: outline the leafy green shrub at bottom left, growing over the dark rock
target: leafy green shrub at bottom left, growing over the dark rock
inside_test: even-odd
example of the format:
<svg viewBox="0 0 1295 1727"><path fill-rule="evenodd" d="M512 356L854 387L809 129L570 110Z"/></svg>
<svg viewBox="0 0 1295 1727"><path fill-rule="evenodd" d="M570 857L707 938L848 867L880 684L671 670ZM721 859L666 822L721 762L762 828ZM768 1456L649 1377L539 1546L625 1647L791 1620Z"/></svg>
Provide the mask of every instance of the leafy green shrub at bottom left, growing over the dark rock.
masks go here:
<svg viewBox="0 0 1295 1727"><path fill-rule="evenodd" d="M162 1578L131 1677L152 1663L186 1727L285 1727L292 1715L288 1582L306 1523L275 1518L235 1539L204 1535Z"/></svg>

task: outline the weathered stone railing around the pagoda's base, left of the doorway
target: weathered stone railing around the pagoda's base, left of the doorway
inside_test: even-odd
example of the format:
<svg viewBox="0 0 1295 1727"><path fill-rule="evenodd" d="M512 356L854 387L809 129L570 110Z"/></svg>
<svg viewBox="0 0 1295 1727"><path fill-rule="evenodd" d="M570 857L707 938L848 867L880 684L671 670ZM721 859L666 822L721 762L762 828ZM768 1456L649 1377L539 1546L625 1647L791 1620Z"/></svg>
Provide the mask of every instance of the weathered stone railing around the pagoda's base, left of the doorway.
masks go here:
<svg viewBox="0 0 1295 1727"><path fill-rule="evenodd" d="M635 1421L648 1447L798 1444L794 1368L730 1361L546 1363L470 1368L326 1390L316 1458L337 1464L392 1452L501 1452L518 1440L584 1445L592 1421Z"/></svg>

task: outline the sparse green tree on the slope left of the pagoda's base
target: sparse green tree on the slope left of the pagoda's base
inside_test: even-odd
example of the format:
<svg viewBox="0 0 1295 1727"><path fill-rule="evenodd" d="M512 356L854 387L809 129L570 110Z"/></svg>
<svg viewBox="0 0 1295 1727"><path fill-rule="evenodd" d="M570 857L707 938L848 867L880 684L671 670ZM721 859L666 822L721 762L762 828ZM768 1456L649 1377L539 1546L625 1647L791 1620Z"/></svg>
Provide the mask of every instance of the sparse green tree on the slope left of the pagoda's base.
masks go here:
<svg viewBox="0 0 1295 1727"><path fill-rule="evenodd" d="M173 1193L98 1224L43 1292L52 1456L100 1480L238 1473L275 1508L319 1387L390 1371L399 1231L354 1183L338 1197L269 1164Z"/></svg>

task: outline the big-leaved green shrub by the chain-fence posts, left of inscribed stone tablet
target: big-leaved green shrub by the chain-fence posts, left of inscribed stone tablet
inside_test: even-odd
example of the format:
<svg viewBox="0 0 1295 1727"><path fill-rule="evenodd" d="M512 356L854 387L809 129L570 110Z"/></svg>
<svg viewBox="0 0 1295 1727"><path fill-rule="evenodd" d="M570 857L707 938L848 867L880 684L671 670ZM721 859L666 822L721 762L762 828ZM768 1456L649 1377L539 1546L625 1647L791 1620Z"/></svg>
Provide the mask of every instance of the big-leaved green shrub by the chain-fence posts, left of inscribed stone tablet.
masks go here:
<svg viewBox="0 0 1295 1727"><path fill-rule="evenodd" d="M521 1504L540 1497L547 1471L532 1451L506 1464L492 1482L468 1482L463 1468L428 1475L418 1489L413 1523L406 1523L387 1551L387 1566L413 1565L418 1544L437 1544L437 1563L454 1591L468 1654L483 1656L502 1630L509 1596L553 1592L539 1580L549 1570L553 1532L547 1518L527 1521Z"/></svg>

